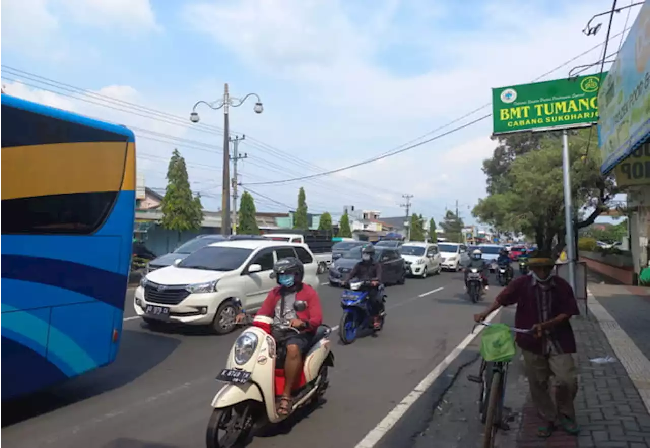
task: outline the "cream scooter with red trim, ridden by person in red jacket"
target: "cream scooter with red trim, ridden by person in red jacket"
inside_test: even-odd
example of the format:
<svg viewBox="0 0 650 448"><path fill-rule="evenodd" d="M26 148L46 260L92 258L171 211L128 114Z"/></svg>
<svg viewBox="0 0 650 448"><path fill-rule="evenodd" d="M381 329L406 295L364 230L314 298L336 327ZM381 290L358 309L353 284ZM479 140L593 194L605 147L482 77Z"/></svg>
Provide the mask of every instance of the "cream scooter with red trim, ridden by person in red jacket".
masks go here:
<svg viewBox="0 0 650 448"><path fill-rule="evenodd" d="M294 309L302 311L306 306L299 300ZM243 447L255 430L287 418L278 414L276 401L285 384L283 342L296 332L289 325L274 324L269 317L256 316L253 326L237 337L226 368L216 378L227 384L212 401L214 410L205 434L207 448ZM328 367L334 365L330 332L326 325L317 329L313 345L304 358L302 375L292 391L292 412L318 402L328 387Z"/></svg>

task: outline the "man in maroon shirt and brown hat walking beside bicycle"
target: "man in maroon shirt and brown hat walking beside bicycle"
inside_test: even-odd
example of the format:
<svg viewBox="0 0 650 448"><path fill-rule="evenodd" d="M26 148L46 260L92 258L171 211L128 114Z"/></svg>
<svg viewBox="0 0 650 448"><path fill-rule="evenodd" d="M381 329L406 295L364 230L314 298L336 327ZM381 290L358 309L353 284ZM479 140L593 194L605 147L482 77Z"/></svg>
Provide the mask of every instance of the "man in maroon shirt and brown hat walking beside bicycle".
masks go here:
<svg viewBox="0 0 650 448"><path fill-rule="evenodd" d="M580 314L571 285L553 272L550 256L530 254L530 275L513 280L493 304L474 321L482 322L501 306L517 304L515 326L532 328L530 334L518 332L516 342L521 349L530 395L544 424L538 436L548 438L556 422L569 434L580 431L575 419L573 402L578 389L573 353L575 336L569 322ZM551 397L550 379L555 377L555 403Z"/></svg>

